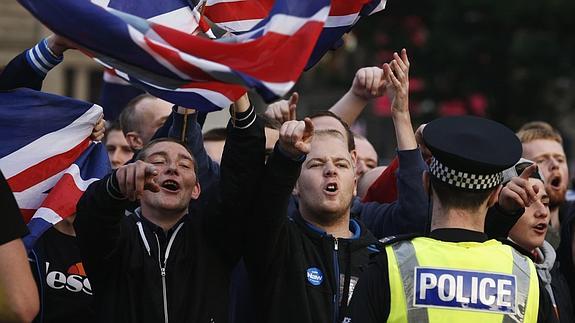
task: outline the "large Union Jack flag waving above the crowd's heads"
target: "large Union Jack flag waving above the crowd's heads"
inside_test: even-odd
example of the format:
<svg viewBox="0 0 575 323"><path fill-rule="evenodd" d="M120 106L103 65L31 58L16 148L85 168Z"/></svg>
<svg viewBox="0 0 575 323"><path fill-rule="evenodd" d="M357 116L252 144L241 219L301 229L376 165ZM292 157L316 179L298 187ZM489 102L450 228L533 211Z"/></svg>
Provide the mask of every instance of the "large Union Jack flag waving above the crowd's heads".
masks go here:
<svg viewBox="0 0 575 323"><path fill-rule="evenodd" d="M271 101L302 73L329 0L276 0L236 37L210 40L87 0L19 0L50 29L84 47L117 76L175 104L212 111L255 88Z"/></svg>

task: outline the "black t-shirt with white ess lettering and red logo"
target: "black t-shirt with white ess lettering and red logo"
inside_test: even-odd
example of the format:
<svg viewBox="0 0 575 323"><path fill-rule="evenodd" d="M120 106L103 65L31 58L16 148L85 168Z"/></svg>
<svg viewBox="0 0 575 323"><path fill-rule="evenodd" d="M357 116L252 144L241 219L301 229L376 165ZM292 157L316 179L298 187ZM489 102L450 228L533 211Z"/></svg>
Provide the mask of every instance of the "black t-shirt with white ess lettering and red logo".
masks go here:
<svg viewBox="0 0 575 323"><path fill-rule="evenodd" d="M37 268L32 264L38 283L42 271L42 311L44 322L94 322L92 287L86 277L76 237L50 228L35 248Z"/></svg>

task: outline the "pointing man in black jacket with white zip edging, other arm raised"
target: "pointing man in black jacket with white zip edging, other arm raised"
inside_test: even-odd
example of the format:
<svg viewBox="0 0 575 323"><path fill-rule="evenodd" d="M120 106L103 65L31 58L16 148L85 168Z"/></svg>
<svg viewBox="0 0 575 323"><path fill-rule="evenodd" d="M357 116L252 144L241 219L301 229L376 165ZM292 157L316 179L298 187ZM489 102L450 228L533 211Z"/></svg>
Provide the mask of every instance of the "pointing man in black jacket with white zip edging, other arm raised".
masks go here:
<svg viewBox="0 0 575 323"><path fill-rule="evenodd" d="M136 163L83 195L74 225L101 321L227 322L229 272L250 204L244 194L253 196L252 166L264 156L263 124L246 102L228 126L221 198L209 209L188 213L200 194L195 161L172 140L152 141ZM124 216L136 198L141 207Z"/></svg>

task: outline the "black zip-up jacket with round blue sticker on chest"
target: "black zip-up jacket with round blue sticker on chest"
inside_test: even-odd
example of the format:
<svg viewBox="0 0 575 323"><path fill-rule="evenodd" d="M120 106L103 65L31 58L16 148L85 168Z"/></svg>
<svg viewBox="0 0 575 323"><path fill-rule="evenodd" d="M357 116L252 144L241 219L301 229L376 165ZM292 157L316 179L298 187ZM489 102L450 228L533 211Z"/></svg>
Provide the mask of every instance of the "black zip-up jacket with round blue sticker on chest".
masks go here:
<svg viewBox="0 0 575 323"><path fill-rule="evenodd" d="M291 190L301 161L277 148L267 163L244 260L255 295L257 322L341 322L357 277L378 252L378 240L357 220L353 237L336 239L306 222L288 217Z"/></svg>

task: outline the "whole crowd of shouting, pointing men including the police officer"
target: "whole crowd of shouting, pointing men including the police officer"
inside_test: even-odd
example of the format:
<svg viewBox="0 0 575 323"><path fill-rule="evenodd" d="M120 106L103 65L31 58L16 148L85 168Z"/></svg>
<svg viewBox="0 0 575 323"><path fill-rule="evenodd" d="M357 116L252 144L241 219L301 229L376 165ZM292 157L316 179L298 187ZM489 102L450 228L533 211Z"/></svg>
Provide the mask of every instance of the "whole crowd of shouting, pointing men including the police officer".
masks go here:
<svg viewBox="0 0 575 323"><path fill-rule="evenodd" d="M69 47L23 52L0 90L40 90ZM245 95L204 135L196 111L137 96L91 136L113 172L27 254L2 177L0 321L575 322L561 135L470 116L414 131L409 70L404 49L304 118L297 93L261 115ZM349 128L382 95L385 166Z"/></svg>

